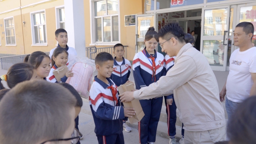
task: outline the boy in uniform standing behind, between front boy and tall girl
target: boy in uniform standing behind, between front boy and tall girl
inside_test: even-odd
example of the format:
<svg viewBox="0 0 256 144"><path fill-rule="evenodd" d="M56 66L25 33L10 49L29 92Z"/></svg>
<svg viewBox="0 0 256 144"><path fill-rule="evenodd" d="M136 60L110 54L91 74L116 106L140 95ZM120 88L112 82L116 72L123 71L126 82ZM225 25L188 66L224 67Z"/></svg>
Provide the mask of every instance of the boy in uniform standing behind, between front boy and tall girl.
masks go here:
<svg viewBox="0 0 256 144"><path fill-rule="evenodd" d="M131 63L123 57L124 52L125 50L122 44L116 44L114 46L114 71L112 72L110 79L116 84L116 86L125 84L131 73ZM123 128L126 132L131 132L132 129L126 124L127 120L128 117L123 119Z"/></svg>

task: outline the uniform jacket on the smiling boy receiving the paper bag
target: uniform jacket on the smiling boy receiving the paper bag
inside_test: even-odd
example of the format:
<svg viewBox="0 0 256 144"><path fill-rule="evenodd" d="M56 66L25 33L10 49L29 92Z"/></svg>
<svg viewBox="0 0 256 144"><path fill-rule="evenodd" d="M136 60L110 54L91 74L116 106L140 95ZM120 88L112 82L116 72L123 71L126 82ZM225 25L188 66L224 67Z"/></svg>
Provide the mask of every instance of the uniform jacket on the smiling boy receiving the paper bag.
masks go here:
<svg viewBox="0 0 256 144"><path fill-rule="evenodd" d="M109 136L112 134L121 134L123 131L124 108L121 106L118 97L117 86L110 78L106 78L115 88L114 93L118 103L112 96L112 91L108 89L108 84L94 77L94 82L90 89L89 104L92 110L92 116L95 123L94 132L96 135Z"/></svg>

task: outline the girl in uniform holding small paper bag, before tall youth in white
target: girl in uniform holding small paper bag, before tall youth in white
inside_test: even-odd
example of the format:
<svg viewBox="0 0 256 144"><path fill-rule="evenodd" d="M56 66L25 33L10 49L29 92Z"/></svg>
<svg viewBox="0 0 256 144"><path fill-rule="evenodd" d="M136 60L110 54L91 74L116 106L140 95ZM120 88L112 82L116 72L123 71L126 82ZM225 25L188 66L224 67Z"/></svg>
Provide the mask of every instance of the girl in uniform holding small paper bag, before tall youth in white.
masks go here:
<svg viewBox="0 0 256 144"><path fill-rule="evenodd" d="M60 67L60 66L64 66L65 64L67 64L68 62L68 52L64 49L64 48L56 48L52 54L52 68L50 70L50 74L47 78L47 80L49 82L56 82L58 83L58 81L56 80L53 71ZM66 72L65 76L63 78L60 78L60 82L66 82L66 80L68 79L68 77L72 77L73 73L71 70L69 70L68 72Z"/></svg>

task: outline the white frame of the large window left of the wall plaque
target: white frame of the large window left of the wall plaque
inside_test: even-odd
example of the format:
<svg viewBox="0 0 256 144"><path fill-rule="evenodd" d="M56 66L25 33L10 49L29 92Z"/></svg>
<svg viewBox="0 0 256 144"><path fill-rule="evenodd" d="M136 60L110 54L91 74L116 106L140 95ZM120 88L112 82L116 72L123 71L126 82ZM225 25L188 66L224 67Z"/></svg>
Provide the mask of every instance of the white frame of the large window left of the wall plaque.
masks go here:
<svg viewBox="0 0 256 144"><path fill-rule="evenodd" d="M117 43L120 43L120 39L121 39L121 34L120 34L120 0L118 0L118 14L111 14L111 15L106 15L106 16L95 16L95 12L94 12L94 2L97 1L101 1L101 0L90 0L90 19L91 19L91 43L90 46L114 46ZM104 38L104 30L102 28L102 42L96 42L96 22L95 19L96 18L102 18L102 27L103 27L103 17L108 17L110 16L110 20L111 20L111 29L112 29L112 16L118 16L118 42L103 42L103 38ZM113 39L112 37L112 30L111 30L111 41Z"/></svg>

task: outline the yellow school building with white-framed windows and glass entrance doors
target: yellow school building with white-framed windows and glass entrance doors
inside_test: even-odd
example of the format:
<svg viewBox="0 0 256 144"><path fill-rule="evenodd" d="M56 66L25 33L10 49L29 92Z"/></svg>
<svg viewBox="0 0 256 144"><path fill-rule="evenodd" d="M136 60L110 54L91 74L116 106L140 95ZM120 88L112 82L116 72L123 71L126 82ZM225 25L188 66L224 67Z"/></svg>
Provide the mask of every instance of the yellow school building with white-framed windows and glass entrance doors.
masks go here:
<svg viewBox="0 0 256 144"><path fill-rule="evenodd" d="M122 43L132 60L147 28L158 31L173 21L186 33L195 31L196 49L212 70L229 70L238 23L254 24L256 44L256 0L0 0L0 54L49 52L57 45L55 30L65 28L79 56L86 56L86 47Z"/></svg>

